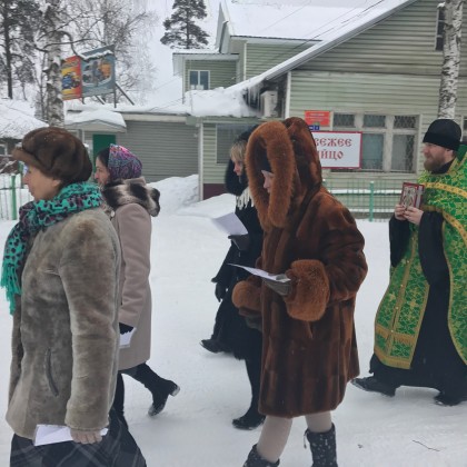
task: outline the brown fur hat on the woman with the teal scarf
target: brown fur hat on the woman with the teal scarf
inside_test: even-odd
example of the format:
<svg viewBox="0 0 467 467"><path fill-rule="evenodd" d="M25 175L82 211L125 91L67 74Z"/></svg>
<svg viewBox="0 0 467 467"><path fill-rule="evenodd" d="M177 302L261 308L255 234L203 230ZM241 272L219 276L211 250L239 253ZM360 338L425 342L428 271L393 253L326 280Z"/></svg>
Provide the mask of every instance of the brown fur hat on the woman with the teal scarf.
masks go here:
<svg viewBox="0 0 467 467"><path fill-rule="evenodd" d="M92 172L85 145L63 128L44 127L30 131L21 146L13 149L12 157L67 185L86 181Z"/></svg>

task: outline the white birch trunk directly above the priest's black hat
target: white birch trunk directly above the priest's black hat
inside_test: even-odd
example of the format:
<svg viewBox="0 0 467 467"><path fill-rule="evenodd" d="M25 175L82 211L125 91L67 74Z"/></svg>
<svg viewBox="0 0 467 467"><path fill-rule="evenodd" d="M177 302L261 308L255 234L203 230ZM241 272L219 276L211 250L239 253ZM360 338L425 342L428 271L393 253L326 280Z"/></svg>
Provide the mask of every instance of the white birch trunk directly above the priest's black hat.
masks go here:
<svg viewBox="0 0 467 467"><path fill-rule="evenodd" d="M445 18L438 117L454 119L457 103L464 0L445 0L438 8L443 9Z"/></svg>

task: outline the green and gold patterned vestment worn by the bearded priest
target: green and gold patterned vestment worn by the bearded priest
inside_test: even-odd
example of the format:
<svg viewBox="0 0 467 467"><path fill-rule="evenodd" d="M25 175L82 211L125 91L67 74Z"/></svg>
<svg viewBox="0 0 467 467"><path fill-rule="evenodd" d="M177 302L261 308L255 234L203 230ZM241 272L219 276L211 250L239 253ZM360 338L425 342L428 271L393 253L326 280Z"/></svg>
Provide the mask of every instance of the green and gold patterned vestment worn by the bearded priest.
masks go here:
<svg viewBox="0 0 467 467"><path fill-rule="evenodd" d="M448 326L453 342L467 364L466 169L466 157L456 158L446 173L425 172L419 183L425 185L421 209L439 212L444 218L443 246L450 279ZM375 354L385 365L410 368L428 291L418 257L418 226L410 225L409 246L391 269L390 284L375 320Z"/></svg>

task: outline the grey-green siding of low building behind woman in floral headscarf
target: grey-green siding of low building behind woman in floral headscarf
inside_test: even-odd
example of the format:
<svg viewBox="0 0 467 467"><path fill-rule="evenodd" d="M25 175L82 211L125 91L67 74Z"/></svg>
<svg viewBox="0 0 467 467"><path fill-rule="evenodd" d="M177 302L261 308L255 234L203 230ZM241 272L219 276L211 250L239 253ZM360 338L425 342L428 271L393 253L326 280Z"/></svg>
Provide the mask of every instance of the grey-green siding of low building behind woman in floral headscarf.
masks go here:
<svg viewBox="0 0 467 467"><path fill-rule="evenodd" d="M127 121L117 142L141 159L147 181L198 173L197 129L185 122Z"/></svg>

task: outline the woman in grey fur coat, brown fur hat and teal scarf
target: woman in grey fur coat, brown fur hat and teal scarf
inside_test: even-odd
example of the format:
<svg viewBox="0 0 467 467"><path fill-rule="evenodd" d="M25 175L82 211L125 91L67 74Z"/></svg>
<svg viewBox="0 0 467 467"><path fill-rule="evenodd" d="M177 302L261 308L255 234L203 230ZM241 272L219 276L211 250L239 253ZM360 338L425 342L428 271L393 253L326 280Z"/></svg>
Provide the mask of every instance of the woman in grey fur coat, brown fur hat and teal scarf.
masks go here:
<svg viewBox="0 0 467 467"><path fill-rule="evenodd" d="M1 275L13 318L10 465L143 467L110 410L120 247L99 189L87 181L88 152L70 132L46 127L26 135L12 157L33 201L8 236ZM72 440L36 446L42 425L68 427Z"/></svg>

